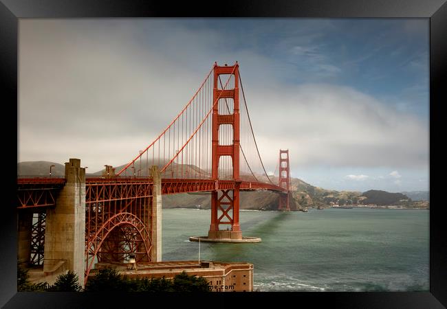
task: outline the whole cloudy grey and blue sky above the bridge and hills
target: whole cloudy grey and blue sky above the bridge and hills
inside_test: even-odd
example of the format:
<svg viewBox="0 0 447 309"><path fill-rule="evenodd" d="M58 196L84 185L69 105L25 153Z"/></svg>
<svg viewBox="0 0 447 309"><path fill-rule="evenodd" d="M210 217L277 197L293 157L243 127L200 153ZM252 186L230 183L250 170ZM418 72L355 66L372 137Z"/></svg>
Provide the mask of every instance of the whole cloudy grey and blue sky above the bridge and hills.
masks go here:
<svg viewBox="0 0 447 309"><path fill-rule="evenodd" d="M149 146L239 63L259 151L328 190L429 190L428 19L20 19L18 162Z"/></svg>

